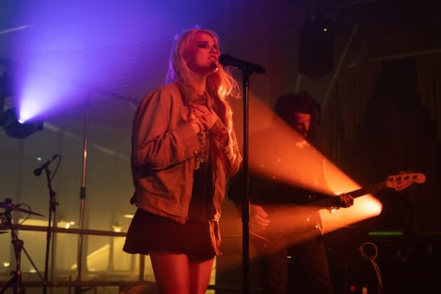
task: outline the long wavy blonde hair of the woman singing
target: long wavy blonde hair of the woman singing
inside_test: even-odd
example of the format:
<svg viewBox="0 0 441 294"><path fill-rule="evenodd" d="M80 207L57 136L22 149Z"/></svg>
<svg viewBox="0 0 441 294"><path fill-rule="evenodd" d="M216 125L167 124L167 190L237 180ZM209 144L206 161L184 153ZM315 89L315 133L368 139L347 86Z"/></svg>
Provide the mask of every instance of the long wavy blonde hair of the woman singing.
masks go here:
<svg viewBox="0 0 441 294"><path fill-rule="evenodd" d="M214 39L219 48L219 37L215 31L211 29L193 28L184 31L175 37L172 47L172 54L169 58L169 69L165 78L165 83L177 83L181 88L184 96L184 102L190 103L195 96L195 90L190 82L190 69L184 59L184 54L197 33L205 33ZM221 53L219 52L219 55ZM207 92L213 97L214 104L217 109L218 116L224 125L228 128L228 132L232 130L232 109L228 104L228 98L239 98L239 85L228 71L223 69L221 64L218 65L218 71L211 73L207 77Z"/></svg>

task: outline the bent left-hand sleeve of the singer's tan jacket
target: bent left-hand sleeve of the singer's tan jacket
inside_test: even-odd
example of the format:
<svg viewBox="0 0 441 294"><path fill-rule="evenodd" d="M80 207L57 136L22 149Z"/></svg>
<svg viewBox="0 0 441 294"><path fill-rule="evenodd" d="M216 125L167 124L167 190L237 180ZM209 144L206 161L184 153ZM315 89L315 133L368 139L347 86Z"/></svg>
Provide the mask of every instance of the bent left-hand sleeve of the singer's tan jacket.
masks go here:
<svg viewBox="0 0 441 294"><path fill-rule="evenodd" d="M172 129L171 120L181 116L176 97L167 88L159 88L141 102L135 113L132 133L134 165L151 170L166 169L171 165L195 157L200 152L200 141L190 123L183 122ZM176 124L174 124L176 125Z"/></svg>

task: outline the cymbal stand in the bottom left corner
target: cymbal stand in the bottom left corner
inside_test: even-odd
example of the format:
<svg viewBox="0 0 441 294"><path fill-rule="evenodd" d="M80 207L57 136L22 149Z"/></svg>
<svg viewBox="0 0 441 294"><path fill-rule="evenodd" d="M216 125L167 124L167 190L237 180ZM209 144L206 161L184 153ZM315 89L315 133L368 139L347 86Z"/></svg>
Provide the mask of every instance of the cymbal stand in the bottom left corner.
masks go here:
<svg viewBox="0 0 441 294"><path fill-rule="evenodd" d="M8 201L8 199L6 201ZM1 223L5 224L8 228L12 226L10 209L6 209L5 212L1 214ZM8 283L6 283L6 285L3 286L3 288L0 290L0 294L4 293L6 289L8 289L8 287L10 286L13 286L14 294L24 294L26 293L26 290L25 287L23 287L22 271L20 269L22 251L26 254L27 258L29 259L29 262L31 262L31 265L36 270L36 273L40 277L41 281L43 281L43 276L41 276L40 272L38 272L38 269L34 264L34 261L31 259L25 247L23 246L23 240L18 239L17 233L15 233L15 231L12 228L10 229L10 235L12 237L11 243L13 244L14 253L15 253L15 271L11 272L13 276L10 278Z"/></svg>

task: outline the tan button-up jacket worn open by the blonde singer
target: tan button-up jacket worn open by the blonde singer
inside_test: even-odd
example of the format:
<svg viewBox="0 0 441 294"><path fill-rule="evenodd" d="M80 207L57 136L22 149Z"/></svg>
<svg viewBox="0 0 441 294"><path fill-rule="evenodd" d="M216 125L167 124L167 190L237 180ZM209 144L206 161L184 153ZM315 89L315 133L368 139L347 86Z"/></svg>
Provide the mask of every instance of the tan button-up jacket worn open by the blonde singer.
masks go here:
<svg viewBox="0 0 441 294"><path fill-rule="evenodd" d="M179 87L165 85L143 99L134 116L132 133L135 204L179 223L188 220L195 156L201 149L188 115L189 107L183 104ZM228 130L218 121L210 132L225 134L227 139L227 142L215 139L210 146L217 221L227 179L237 173L241 155L234 130L228 136ZM228 144L231 140L232 144Z"/></svg>

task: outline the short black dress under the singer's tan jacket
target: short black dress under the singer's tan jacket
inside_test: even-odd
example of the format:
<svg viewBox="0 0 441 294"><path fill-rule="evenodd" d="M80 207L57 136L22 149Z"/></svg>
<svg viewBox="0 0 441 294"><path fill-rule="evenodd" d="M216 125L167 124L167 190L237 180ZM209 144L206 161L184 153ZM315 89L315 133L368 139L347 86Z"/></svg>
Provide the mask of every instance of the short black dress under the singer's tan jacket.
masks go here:
<svg viewBox="0 0 441 294"><path fill-rule="evenodd" d="M213 221L215 209L211 178L210 162L201 162L194 173L189 220L185 224L137 209L127 231L123 251L146 255L152 250L183 253L192 261L214 258L214 229L218 229L218 224Z"/></svg>

